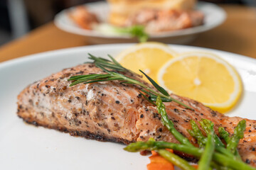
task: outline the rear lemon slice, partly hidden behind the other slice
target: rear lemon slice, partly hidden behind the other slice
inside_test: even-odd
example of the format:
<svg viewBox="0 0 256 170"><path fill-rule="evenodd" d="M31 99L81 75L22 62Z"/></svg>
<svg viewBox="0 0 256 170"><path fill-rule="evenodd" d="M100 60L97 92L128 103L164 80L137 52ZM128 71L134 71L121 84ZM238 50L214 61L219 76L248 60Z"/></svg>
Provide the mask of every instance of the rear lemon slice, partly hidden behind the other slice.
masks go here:
<svg viewBox="0 0 256 170"><path fill-rule="evenodd" d="M170 59L177 56L177 53L168 45L159 42L144 42L134 45L117 55L116 60L127 69L133 72L143 72L156 80L159 69ZM146 79L146 78L144 78Z"/></svg>

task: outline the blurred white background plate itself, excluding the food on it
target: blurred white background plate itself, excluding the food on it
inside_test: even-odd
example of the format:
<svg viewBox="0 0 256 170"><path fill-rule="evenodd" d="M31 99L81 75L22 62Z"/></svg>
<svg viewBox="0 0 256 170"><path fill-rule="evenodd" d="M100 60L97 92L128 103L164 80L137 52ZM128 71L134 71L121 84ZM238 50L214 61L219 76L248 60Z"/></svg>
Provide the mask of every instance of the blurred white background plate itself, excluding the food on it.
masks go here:
<svg viewBox="0 0 256 170"><path fill-rule="evenodd" d="M102 21L107 21L109 7L107 6L106 2L95 2L87 4L86 6L90 11L97 13L97 16L99 16ZM161 35L151 35L149 40L184 44L196 38L196 34L203 33L206 30L215 28L216 26L219 26L221 23L223 23L223 21L225 21L225 11L223 11L222 8L216 6L215 4L199 2L196 8L205 14L203 26L177 30L169 33L163 33ZM75 33L78 35L84 35L88 41L95 44L137 41L135 38L129 38L127 36L104 35L94 30L82 29L73 23L72 20L70 20L68 12L71 10L73 10L73 8L65 9L55 16L54 23L61 30L65 30L69 33Z"/></svg>

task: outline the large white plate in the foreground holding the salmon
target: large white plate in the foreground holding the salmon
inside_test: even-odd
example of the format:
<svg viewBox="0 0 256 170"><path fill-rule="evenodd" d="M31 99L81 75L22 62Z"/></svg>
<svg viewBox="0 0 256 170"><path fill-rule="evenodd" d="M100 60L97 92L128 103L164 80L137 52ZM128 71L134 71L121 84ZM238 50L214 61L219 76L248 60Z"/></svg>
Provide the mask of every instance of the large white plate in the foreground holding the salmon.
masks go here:
<svg viewBox="0 0 256 170"><path fill-rule="evenodd" d="M147 157L124 152L124 145L72 137L64 132L23 123L16 115L16 96L33 81L87 61L87 53L107 57L129 47L95 45L45 52L0 64L0 166L1 169L124 169L146 170ZM244 85L238 106L228 115L256 119L256 60L218 50L171 45L178 52L208 51L233 64Z"/></svg>

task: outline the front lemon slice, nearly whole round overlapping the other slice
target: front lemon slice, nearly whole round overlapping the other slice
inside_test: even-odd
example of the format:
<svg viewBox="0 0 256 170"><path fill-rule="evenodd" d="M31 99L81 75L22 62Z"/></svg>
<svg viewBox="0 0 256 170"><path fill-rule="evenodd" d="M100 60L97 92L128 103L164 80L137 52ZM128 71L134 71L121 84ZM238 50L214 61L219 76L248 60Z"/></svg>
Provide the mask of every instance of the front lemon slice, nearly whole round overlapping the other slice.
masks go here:
<svg viewBox="0 0 256 170"><path fill-rule="evenodd" d="M191 52L169 60L159 70L158 81L170 92L225 113L242 93L242 81L235 69L220 57Z"/></svg>

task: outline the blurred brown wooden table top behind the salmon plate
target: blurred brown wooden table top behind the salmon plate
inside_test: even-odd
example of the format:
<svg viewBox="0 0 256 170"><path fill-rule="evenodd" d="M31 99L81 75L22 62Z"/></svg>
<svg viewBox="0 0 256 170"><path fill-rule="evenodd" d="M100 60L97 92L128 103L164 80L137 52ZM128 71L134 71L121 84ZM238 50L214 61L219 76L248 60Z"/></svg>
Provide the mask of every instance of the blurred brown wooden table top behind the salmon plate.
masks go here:
<svg viewBox="0 0 256 170"><path fill-rule="evenodd" d="M256 59L256 8L222 5L228 14L223 25L201 33L188 45L238 53ZM48 23L0 47L0 62L37 52L89 45L80 35L65 33Z"/></svg>

